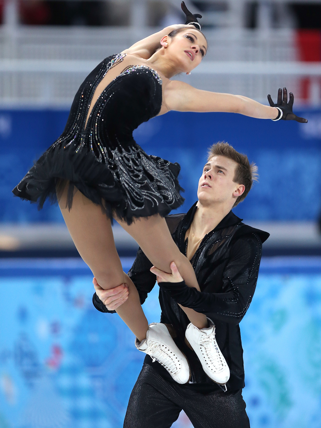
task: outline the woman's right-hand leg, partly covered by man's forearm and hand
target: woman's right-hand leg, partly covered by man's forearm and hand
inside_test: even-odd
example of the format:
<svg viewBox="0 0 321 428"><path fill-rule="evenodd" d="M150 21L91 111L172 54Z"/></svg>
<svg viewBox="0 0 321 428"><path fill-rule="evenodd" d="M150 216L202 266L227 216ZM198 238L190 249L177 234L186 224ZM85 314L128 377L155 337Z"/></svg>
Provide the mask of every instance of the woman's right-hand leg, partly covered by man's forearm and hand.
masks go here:
<svg viewBox="0 0 321 428"><path fill-rule="evenodd" d="M122 220L117 219L117 221L134 238L156 268L170 273L169 265L171 262L175 262L186 284L200 291L193 266L178 250L164 218L158 214L151 217L141 217L130 226ZM181 308L196 327L208 327L208 321L204 314L183 306Z"/></svg>

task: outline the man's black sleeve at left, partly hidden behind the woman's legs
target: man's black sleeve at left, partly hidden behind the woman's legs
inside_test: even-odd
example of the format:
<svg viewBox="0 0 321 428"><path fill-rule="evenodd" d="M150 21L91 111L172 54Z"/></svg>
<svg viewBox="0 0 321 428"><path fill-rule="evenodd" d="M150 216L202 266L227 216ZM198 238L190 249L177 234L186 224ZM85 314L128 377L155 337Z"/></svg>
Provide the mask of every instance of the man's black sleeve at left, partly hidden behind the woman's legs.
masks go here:
<svg viewBox="0 0 321 428"><path fill-rule="evenodd" d="M145 302L147 294L152 291L156 282L156 275L149 270L151 267L152 263L139 248L134 264L128 272L128 276L137 288L141 304ZM108 312L110 314L116 313L116 311L109 311L96 293L92 296L92 303L100 312Z"/></svg>

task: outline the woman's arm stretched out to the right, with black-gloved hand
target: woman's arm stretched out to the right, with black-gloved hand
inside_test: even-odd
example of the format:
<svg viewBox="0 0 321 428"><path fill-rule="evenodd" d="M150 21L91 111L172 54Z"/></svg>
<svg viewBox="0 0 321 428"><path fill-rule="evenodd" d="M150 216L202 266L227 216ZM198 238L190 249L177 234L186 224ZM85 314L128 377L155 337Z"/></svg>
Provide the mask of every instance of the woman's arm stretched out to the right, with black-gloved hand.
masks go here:
<svg viewBox="0 0 321 428"><path fill-rule="evenodd" d="M287 110L286 113L289 114L289 117L286 120L307 122L306 119L299 118L292 113L293 94L290 92L289 102L287 102L287 96L284 88L282 101L282 90L280 92L279 89L278 103L274 106ZM279 103L280 97L281 102ZM240 113L257 119L276 119L279 116L279 110L274 106L260 104L243 95L203 91L178 80L171 80L167 84L164 103L168 110Z"/></svg>

